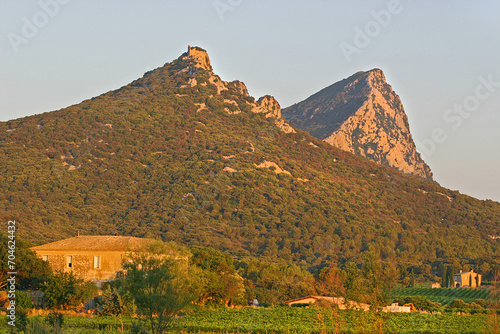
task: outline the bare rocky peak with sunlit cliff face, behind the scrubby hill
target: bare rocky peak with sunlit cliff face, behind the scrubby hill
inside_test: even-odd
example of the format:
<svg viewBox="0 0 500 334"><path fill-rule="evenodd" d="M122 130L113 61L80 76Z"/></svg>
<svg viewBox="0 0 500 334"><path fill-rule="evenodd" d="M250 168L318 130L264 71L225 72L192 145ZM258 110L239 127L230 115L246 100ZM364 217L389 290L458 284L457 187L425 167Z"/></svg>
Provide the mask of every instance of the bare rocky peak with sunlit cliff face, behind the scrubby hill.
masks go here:
<svg viewBox="0 0 500 334"><path fill-rule="evenodd" d="M417 152L399 96L379 69L358 72L283 110L293 126L314 137L432 180Z"/></svg>

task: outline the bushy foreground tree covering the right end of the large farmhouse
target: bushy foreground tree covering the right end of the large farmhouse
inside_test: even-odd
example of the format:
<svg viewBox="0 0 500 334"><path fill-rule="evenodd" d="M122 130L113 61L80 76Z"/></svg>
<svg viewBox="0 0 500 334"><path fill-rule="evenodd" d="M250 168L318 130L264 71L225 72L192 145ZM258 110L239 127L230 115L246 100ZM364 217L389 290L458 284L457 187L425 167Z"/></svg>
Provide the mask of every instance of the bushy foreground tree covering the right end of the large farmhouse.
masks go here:
<svg viewBox="0 0 500 334"><path fill-rule="evenodd" d="M153 334L164 333L173 318L200 295L200 273L190 253L173 243L153 242L124 260L124 287Z"/></svg>

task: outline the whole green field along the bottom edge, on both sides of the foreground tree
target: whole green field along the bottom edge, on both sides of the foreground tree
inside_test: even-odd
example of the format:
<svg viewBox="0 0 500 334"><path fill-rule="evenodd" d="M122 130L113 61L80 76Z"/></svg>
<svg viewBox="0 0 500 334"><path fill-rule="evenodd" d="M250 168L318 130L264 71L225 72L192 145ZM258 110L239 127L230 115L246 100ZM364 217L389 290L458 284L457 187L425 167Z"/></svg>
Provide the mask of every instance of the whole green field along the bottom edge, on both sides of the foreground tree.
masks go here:
<svg viewBox="0 0 500 334"><path fill-rule="evenodd" d="M0 333L8 333L2 317ZM128 332L136 319L125 319ZM317 307L203 310L176 319L171 333L488 333L499 327L488 315L387 314ZM53 333L43 317L29 318L27 333ZM37 329L38 328L38 329ZM115 317L65 317L63 333L120 333ZM493 331L491 331L493 333Z"/></svg>

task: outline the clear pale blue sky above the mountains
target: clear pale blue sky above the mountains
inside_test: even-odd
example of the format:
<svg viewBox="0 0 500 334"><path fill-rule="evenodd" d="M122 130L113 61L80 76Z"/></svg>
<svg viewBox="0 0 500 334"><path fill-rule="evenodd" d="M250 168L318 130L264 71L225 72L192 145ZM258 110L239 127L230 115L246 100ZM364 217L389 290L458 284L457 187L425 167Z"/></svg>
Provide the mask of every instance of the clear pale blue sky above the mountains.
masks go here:
<svg viewBox="0 0 500 334"><path fill-rule="evenodd" d="M500 2L0 0L0 121L58 110L178 58L282 107L380 68L442 186L500 201Z"/></svg>

